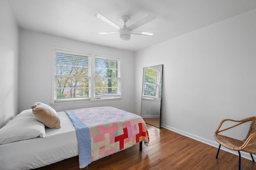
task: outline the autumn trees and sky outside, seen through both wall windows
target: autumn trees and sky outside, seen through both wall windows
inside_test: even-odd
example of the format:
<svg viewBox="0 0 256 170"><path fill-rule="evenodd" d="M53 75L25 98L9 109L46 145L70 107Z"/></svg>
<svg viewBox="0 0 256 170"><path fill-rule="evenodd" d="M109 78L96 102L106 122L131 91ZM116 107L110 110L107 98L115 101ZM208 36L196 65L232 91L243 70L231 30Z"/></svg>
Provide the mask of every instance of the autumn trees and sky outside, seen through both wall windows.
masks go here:
<svg viewBox="0 0 256 170"><path fill-rule="evenodd" d="M95 57L95 93L118 93L117 60ZM58 99L89 97L89 57L56 53L56 96Z"/></svg>

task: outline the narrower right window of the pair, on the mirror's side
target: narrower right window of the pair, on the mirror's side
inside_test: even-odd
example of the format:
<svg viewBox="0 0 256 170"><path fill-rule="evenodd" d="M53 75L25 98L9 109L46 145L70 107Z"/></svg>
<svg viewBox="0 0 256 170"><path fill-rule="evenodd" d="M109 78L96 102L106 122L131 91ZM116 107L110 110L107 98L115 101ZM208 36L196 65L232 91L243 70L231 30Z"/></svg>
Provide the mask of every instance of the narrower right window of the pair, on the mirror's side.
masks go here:
<svg viewBox="0 0 256 170"><path fill-rule="evenodd" d="M95 56L95 97L120 96L120 60Z"/></svg>

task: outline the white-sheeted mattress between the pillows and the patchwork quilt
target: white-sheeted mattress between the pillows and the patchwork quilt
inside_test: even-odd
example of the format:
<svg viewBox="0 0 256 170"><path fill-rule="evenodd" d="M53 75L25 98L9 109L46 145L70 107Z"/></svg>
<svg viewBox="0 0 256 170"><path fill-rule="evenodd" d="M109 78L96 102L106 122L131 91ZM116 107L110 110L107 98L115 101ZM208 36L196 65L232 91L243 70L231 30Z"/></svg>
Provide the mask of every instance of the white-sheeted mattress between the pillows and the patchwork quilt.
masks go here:
<svg viewBox="0 0 256 170"><path fill-rule="evenodd" d="M46 138L0 144L0 170L26 170L78 155L76 130L65 112L57 112L61 128L46 128Z"/></svg>

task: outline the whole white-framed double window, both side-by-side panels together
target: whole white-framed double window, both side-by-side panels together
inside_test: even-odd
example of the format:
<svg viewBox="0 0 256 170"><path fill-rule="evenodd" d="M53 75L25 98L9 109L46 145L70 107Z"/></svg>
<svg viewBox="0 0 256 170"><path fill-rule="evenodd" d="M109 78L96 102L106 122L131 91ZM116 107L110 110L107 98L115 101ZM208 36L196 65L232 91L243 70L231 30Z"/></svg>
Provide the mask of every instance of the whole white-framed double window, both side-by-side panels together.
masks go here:
<svg viewBox="0 0 256 170"><path fill-rule="evenodd" d="M53 51L52 104L121 97L120 59L55 48Z"/></svg>

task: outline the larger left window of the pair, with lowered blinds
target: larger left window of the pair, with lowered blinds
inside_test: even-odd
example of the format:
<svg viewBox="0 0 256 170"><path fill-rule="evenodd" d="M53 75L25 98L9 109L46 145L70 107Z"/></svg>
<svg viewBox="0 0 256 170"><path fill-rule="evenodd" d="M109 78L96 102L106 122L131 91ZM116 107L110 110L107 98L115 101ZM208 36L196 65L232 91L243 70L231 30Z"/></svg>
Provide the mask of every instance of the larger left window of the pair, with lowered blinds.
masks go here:
<svg viewBox="0 0 256 170"><path fill-rule="evenodd" d="M55 51L55 102L90 99L90 55Z"/></svg>

